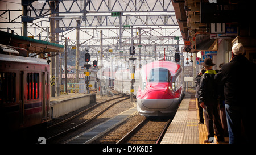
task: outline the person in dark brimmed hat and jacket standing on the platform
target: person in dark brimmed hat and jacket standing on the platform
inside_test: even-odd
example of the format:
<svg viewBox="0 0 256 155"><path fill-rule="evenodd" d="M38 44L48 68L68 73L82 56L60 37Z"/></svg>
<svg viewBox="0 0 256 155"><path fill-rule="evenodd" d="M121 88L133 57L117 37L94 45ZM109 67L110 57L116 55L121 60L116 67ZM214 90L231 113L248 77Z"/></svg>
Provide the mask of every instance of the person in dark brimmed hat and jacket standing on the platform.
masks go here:
<svg viewBox="0 0 256 155"><path fill-rule="evenodd" d="M208 139L205 143L211 143L209 139L214 139L214 129L217 136L217 142L224 142L224 130L221 125L220 115L218 114L218 93L217 85L214 83L214 76L216 71L212 69L215 65L212 59L205 58L201 63L206 72L201 76L199 87L199 101L202 108L204 108L205 125L207 127ZM213 128L214 124L214 128Z"/></svg>

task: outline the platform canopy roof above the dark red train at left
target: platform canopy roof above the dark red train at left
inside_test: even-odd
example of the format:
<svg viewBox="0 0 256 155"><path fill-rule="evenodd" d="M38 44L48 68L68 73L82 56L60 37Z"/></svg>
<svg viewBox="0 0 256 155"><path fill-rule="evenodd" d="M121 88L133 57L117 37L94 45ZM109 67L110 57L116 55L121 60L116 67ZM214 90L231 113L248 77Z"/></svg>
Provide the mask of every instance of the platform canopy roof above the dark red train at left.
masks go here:
<svg viewBox="0 0 256 155"><path fill-rule="evenodd" d="M0 44L19 47L27 50L28 53L51 53L51 52L64 52L64 46L50 43L48 41L36 40L29 37L23 37L0 31Z"/></svg>

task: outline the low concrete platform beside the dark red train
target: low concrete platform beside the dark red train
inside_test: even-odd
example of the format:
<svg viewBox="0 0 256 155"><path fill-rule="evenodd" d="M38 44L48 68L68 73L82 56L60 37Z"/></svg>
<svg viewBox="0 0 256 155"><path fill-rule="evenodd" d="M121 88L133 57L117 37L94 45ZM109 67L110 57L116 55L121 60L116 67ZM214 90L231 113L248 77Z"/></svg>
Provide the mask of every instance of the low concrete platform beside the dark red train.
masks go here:
<svg viewBox="0 0 256 155"><path fill-rule="evenodd" d="M51 118L68 114L88 104L96 102L96 94L69 93L50 98Z"/></svg>

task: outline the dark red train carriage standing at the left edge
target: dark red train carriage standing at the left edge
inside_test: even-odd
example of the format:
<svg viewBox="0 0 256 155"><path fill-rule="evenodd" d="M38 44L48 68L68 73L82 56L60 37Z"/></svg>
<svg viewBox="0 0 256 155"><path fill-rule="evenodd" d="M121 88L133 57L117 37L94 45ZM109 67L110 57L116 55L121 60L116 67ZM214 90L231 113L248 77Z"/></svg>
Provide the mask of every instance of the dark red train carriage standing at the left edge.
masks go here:
<svg viewBox="0 0 256 155"><path fill-rule="evenodd" d="M1 137L46 134L49 107L46 60L0 54L0 120L5 131Z"/></svg>

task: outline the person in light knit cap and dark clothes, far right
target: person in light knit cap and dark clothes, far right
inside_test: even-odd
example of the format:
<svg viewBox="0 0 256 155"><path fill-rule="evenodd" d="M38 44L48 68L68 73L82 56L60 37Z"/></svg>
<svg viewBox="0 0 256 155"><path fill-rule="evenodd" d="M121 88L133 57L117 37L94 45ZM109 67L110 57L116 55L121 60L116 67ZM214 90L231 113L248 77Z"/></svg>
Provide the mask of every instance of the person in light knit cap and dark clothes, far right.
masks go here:
<svg viewBox="0 0 256 155"><path fill-rule="evenodd" d="M254 143L255 130L255 64L245 57L241 43L232 47L232 58L214 77L224 85L229 143ZM242 123L241 123L242 122ZM243 128L243 133L242 133Z"/></svg>

